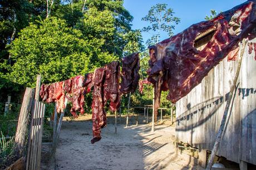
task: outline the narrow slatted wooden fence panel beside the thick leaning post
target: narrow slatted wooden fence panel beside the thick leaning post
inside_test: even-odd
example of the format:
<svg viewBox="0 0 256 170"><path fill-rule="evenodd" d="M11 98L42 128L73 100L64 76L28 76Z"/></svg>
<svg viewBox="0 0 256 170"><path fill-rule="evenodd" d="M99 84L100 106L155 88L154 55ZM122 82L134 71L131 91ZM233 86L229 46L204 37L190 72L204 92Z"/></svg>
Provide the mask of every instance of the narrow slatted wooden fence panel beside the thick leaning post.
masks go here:
<svg viewBox="0 0 256 170"><path fill-rule="evenodd" d="M26 166L27 170L40 169L44 116L45 104L35 100L31 114L31 130L28 141L28 155Z"/></svg>

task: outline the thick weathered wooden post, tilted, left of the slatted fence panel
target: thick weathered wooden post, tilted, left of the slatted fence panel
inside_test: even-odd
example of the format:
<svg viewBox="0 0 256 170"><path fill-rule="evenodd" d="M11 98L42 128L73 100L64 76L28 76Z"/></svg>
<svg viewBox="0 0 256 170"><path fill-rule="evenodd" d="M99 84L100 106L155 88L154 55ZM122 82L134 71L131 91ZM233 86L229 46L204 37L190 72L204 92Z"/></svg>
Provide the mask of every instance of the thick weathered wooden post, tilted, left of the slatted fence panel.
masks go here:
<svg viewBox="0 0 256 170"><path fill-rule="evenodd" d="M24 147L26 145L27 124L28 124L29 113L31 110L34 95L35 95L34 89L26 88L23 101L22 101L21 111L19 113L17 131L15 134L15 142L17 144L16 152L19 155L23 154Z"/></svg>

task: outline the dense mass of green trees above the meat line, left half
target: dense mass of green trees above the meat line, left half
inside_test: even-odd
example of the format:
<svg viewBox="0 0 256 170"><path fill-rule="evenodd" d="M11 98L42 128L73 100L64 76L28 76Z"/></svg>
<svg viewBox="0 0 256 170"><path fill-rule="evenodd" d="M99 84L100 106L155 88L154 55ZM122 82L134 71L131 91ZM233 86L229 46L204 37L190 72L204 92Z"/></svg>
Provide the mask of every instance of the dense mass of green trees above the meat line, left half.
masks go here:
<svg viewBox="0 0 256 170"><path fill-rule="evenodd" d="M142 49L124 1L0 2L0 77L34 87L70 78ZM4 82L4 81L3 81ZM4 86L4 85L3 85Z"/></svg>

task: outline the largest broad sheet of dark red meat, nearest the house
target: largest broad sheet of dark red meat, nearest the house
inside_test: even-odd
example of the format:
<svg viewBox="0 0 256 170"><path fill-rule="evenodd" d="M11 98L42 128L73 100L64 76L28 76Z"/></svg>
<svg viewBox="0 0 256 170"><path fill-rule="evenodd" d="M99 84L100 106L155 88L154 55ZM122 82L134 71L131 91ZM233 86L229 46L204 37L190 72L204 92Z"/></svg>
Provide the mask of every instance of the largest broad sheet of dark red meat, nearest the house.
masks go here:
<svg viewBox="0 0 256 170"><path fill-rule="evenodd" d="M239 42L254 36L251 33L256 23L255 8L255 1L247 1L149 47L147 74L155 89L155 118L161 91L169 90L168 99L177 102L223 58L237 58Z"/></svg>

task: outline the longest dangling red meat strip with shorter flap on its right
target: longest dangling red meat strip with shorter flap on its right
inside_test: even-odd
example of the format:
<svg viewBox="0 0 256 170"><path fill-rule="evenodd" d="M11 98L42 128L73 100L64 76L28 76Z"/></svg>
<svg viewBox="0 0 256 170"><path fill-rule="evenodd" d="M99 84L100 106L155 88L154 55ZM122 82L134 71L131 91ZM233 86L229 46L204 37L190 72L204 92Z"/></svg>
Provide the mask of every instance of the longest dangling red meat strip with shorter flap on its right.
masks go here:
<svg viewBox="0 0 256 170"><path fill-rule="evenodd" d="M96 69L93 74L92 82L94 84L92 98L92 132L95 143L101 139L101 128L107 124L106 111L104 109L108 100L110 100L110 110L115 112L120 107L120 66L119 62L112 62L103 68Z"/></svg>

